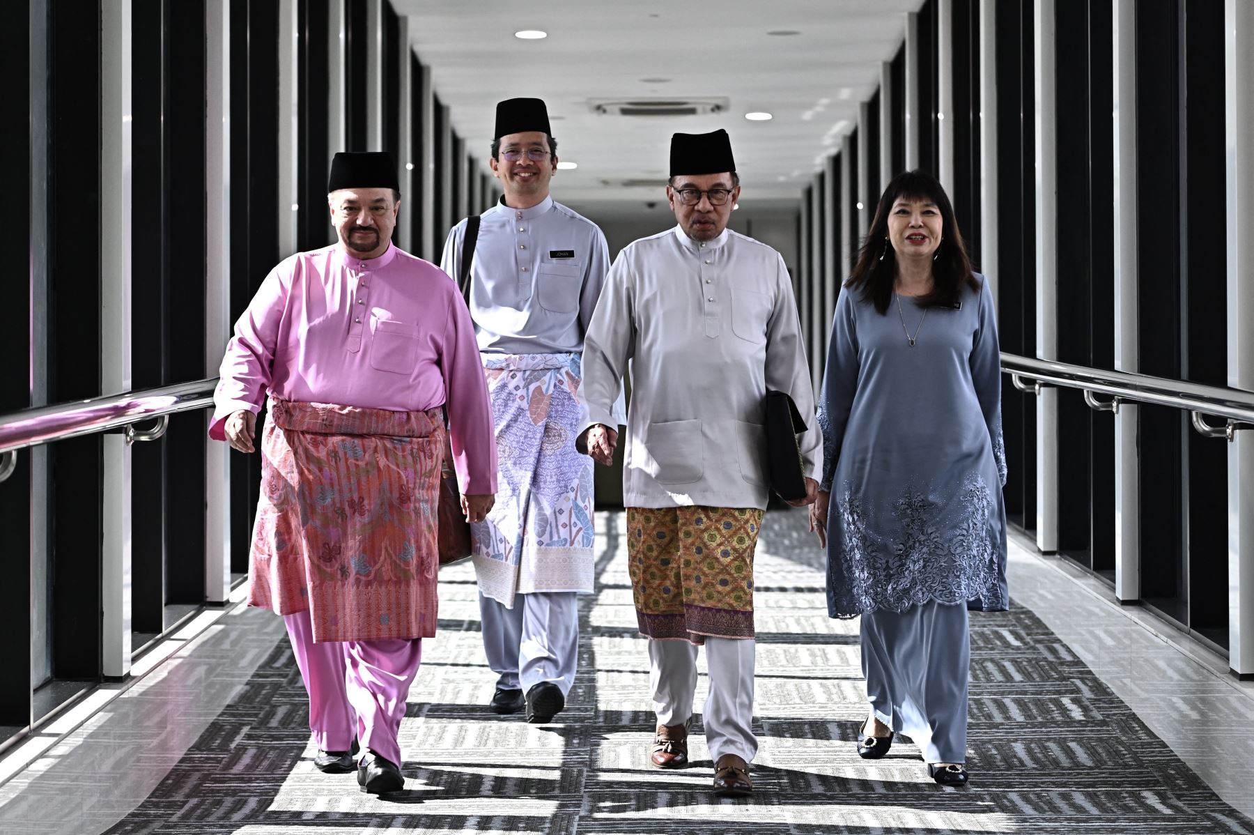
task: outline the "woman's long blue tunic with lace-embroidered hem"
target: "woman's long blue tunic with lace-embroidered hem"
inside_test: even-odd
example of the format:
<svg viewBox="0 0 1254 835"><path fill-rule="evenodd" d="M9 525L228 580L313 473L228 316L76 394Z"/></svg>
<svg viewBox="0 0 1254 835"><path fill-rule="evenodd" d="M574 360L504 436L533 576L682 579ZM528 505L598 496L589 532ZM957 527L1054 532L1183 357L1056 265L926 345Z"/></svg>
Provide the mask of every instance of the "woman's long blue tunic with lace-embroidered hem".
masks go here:
<svg viewBox="0 0 1254 835"><path fill-rule="evenodd" d="M840 290L819 402L834 618L929 601L1008 608L1001 357L976 278L959 308L925 318L908 296L880 315Z"/></svg>

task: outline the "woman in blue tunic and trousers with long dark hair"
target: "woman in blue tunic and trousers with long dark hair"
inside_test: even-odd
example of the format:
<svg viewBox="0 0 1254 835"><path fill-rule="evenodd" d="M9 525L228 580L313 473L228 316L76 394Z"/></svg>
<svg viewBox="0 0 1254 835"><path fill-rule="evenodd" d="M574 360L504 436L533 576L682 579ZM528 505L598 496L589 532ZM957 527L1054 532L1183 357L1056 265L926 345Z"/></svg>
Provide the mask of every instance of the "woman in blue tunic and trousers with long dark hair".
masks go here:
<svg viewBox="0 0 1254 835"><path fill-rule="evenodd" d="M904 733L943 785L967 781L968 606L1008 606L994 312L940 184L898 176L836 300L811 525L829 614L861 616L858 752Z"/></svg>

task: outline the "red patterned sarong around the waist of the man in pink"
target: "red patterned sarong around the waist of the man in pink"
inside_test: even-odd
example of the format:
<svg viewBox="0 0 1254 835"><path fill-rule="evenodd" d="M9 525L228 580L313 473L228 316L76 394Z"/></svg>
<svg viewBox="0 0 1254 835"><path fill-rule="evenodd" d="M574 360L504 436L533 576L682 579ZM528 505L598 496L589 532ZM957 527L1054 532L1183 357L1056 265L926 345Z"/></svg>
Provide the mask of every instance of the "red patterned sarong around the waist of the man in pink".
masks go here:
<svg viewBox="0 0 1254 835"><path fill-rule="evenodd" d="M315 641L433 637L440 418L272 397L248 603Z"/></svg>

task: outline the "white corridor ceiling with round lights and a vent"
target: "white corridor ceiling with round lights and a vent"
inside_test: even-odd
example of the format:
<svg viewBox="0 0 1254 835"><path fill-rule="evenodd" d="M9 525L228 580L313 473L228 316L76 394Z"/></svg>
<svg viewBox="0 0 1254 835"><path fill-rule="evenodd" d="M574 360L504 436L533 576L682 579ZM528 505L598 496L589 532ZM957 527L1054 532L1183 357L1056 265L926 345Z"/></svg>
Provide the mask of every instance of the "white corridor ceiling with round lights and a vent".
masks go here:
<svg viewBox="0 0 1254 835"><path fill-rule="evenodd" d="M656 199L626 179L666 179L670 137L726 128L744 199L795 201L858 119L922 0L393 0L431 68L453 125L487 157L495 103L543 98L563 160L553 191L572 203ZM542 29L543 40L514 31ZM798 30L799 35L769 35ZM668 78L667 83L642 79ZM709 117L598 115L591 99L729 99ZM770 122L749 122L766 110ZM606 182L611 184L607 186Z"/></svg>

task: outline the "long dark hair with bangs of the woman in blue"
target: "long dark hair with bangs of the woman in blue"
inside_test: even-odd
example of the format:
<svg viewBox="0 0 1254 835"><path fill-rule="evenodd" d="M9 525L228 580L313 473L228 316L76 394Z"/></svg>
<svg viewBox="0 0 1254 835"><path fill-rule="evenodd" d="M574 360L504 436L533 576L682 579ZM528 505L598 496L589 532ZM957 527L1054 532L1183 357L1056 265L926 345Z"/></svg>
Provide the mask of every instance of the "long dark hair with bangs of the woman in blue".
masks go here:
<svg viewBox="0 0 1254 835"><path fill-rule="evenodd" d="M967 246L962 241L949 196L935 177L918 168L902 172L884 189L879 206L875 207L875 219L863 239L858 263L849 273L845 287L861 290L861 297L873 302L875 310L888 312L897 281L897 252L888 242L888 216L893 204L902 198L927 201L940 209L940 246L932 265L932 292L919 302L928 307L953 306L962 300L963 286L978 292L979 281L971 270L971 258L967 257Z"/></svg>

